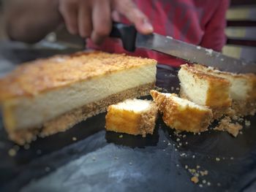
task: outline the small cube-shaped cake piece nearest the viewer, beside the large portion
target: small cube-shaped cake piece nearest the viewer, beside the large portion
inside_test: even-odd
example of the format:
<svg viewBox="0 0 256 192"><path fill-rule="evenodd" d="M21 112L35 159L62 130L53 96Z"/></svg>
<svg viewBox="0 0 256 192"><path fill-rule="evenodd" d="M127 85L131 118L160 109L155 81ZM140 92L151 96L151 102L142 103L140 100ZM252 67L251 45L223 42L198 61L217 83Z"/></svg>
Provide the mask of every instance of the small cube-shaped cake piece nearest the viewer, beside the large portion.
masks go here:
<svg viewBox="0 0 256 192"><path fill-rule="evenodd" d="M157 105L153 101L127 99L108 107L106 130L118 133L153 134L157 118Z"/></svg>

